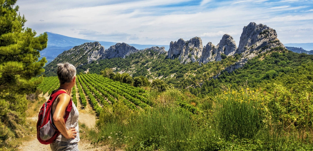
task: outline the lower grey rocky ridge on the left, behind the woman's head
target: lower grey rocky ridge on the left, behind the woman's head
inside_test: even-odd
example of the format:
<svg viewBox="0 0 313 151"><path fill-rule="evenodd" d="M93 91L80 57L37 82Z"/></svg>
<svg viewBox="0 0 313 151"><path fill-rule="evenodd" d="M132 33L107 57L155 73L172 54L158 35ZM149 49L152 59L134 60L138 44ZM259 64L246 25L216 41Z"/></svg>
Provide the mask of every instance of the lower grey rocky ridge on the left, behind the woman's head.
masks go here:
<svg viewBox="0 0 313 151"><path fill-rule="evenodd" d="M80 67L86 64L97 63L103 59L125 59L127 56L135 53L144 58L145 56L142 56L141 53L146 52L146 54L150 55L150 51L153 54L156 53L157 55L166 53L164 47L151 47L144 50L138 50L134 46L128 45L126 43L116 43L115 45L110 46L109 49L105 50L104 46L100 45L99 42L88 42L79 46L75 46L69 50L65 50L64 52L59 54L52 62L47 64L44 69L46 75L51 76L55 75L57 64L60 62L69 62L75 67ZM158 61L157 59L155 60Z"/></svg>

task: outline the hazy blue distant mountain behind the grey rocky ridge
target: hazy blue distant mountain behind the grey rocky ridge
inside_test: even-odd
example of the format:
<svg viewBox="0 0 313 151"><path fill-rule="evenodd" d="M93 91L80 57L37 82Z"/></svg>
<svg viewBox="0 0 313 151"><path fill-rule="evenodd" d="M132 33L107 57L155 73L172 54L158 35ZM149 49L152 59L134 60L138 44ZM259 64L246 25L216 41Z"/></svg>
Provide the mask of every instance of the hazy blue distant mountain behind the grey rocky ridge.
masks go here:
<svg viewBox="0 0 313 151"><path fill-rule="evenodd" d="M40 55L42 57L46 57L46 59L48 60L47 64L49 64L55 57L57 57L65 50L69 50L74 46L82 45L86 42L95 42L94 40L73 38L51 32L47 32L47 34L48 34L48 46L46 49L40 52ZM99 43L106 49L116 44L116 42L108 41L99 41ZM139 45L139 44L129 44L129 45L134 46L138 50L150 48L153 46L165 47L165 50L169 49L169 45Z"/></svg>

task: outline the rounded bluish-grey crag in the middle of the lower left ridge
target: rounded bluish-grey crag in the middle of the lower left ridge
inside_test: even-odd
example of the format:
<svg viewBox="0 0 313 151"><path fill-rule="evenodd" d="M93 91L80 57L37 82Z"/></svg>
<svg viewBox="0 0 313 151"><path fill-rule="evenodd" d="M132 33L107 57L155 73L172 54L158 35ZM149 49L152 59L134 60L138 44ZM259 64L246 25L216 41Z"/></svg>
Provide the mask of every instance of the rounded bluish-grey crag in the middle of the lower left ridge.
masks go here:
<svg viewBox="0 0 313 151"><path fill-rule="evenodd" d="M126 56L138 51L138 49L126 43L117 43L110 46L109 49L105 50L105 54L101 59L111 59L118 57L125 58Z"/></svg>

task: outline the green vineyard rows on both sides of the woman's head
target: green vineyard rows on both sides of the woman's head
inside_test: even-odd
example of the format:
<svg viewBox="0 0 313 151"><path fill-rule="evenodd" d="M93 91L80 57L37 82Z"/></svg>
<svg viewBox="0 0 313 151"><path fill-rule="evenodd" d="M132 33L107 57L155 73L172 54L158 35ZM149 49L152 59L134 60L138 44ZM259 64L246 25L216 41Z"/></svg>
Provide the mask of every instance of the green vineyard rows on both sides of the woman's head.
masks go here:
<svg viewBox="0 0 313 151"><path fill-rule="evenodd" d="M45 77L38 88L44 94L50 95L53 90L59 87L57 77ZM77 106L80 103L84 108L87 101L90 102L97 114L105 106L111 106L117 101L122 101L131 110L143 109L152 106L152 102L146 99L146 91L132 87L126 83L113 81L98 74L81 74L76 76L76 88L72 89L72 100ZM76 93L79 98L76 98Z"/></svg>

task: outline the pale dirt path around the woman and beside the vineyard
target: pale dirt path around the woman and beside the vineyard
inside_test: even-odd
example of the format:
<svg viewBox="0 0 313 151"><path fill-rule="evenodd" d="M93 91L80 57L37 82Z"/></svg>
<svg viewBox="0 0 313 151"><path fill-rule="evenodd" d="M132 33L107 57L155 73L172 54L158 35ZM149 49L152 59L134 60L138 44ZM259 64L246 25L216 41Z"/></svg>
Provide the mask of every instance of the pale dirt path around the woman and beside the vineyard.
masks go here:
<svg viewBox="0 0 313 151"><path fill-rule="evenodd" d="M77 91L76 91L77 92ZM76 98L77 100L79 100L78 97L79 95L76 93ZM46 93L45 96L46 100L49 99L48 94ZM87 101L88 103L88 101ZM77 102L77 106L81 106L80 105L80 101ZM88 107L87 107L88 106ZM95 120L96 120L96 116L95 113L90 113L90 109L91 106L89 104L87 104L86 108L89 108L89 111L86 112L81 108L78 108L78 111L80 112L79 115L79 123L85 123L86 126L93 128L95 126ZM91 109L91 111L93 111ZM38 120L38 115L31 117L29 119L32 119L34 121ZM19 150L21 151L42 151L42 150L51 150L50 149L50 145L44 145L44 144L40 144L39 141L37 140L37 136L32 136L33 139L31 139L28 142L24 142L20 147L18 147ZM103 150L103 151L109 151L110 149L108 148L108 146L94 146L91 145L91 143L88 140L85 139L80 139L80 141L78 142L78 149L80 151L84 151L84 150L88 150L88 151L99 151L99 150Z"/></svg>

